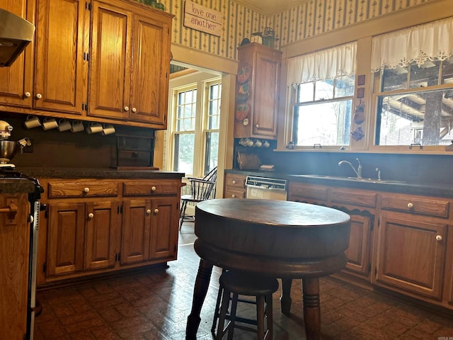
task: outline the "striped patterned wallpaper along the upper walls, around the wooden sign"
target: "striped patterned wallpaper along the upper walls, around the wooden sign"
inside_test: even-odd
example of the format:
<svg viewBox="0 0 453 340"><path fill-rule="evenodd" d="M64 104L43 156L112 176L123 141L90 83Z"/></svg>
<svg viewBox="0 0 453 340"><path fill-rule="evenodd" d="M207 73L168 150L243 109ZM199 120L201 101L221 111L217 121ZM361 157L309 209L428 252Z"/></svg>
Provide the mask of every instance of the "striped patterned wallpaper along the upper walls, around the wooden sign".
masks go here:
<svg viewBox="0 0 453 340"><path fill-rule="evenodd" d="M436 0L309 0L274 16L264 16L229 0L193 0L196 4L220 11L224 17L222 35L216 37L185 28L185 0L161 0L173 19L172 43L236 60L243 38L263 32L269 26L275 31L277 47L291 44L331 30L344 28L386 14L403 11ZM333 44L334 45L334 44Z"/></svg>

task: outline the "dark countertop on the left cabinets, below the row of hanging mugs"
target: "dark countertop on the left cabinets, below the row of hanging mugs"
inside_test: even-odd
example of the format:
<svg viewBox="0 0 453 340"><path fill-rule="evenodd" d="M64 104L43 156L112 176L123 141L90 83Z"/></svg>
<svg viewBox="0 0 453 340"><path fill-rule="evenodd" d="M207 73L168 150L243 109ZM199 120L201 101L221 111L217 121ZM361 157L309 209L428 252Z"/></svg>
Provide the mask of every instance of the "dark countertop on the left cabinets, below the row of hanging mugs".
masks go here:
<svg viewBox="0 0 453 340"><path fill-rule="evenodd" d="M94 168L53 168L18 166L16 170L37 179L182 179L183 173L161 170L116 170Z"/></svg>

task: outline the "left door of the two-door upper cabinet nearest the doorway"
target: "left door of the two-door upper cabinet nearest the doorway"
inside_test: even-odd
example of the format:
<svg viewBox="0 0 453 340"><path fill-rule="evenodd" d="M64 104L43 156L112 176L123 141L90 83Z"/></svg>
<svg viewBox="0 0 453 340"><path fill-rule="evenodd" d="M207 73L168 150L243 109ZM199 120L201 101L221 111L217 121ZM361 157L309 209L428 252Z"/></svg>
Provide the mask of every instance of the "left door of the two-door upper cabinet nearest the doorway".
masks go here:
<svg viewBox="0 0 453 340"><path fill-rule="evenodd" d="M88 115L127 119L130 110L132 13L120 6L93 1L91 17Z"/></svg>

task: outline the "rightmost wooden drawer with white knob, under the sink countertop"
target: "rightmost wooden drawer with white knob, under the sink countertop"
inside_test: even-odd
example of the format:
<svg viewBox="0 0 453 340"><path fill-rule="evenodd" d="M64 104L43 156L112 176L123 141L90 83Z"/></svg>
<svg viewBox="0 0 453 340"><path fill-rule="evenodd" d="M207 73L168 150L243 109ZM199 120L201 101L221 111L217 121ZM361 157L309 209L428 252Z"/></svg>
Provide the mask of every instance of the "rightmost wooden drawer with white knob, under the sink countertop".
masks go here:
<svg viewBox="0 0 453 340"><path fill-rule="evenodd" d="M381 196L381 208L413 212L420 215L431 215L437 217L449 217L449 200L438 198L414 197L414 196Z"/></svg>

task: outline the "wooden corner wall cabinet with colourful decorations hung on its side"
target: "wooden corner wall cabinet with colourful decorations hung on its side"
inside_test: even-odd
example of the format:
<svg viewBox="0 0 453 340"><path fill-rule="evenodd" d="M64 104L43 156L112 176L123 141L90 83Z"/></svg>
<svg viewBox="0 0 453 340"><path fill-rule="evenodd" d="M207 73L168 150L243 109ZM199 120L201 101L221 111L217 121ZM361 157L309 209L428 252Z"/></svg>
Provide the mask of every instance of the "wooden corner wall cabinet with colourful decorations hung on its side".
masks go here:
<svg viewBox="0 0 453 340"><path fill-rule="evenodd" d="M276 139L282 52L256 43L238 51L234 137Z"/></svg>

